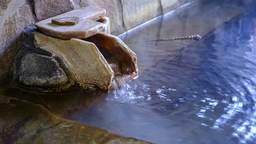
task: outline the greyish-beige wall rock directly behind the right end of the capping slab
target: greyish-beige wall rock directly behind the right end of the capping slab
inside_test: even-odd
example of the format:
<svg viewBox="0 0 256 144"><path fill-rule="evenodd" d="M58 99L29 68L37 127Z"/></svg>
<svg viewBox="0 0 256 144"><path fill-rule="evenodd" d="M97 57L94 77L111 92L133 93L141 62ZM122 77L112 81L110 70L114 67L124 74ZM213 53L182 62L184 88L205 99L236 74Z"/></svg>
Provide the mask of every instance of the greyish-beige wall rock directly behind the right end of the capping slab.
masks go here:
<svg viewBox="0 0 256 144"><path fill-rule="evenodd" d="M106 15L110 19L111 35L120 35L126 31L123 26L123 10L119 0L81 0L81 7L99 7L106 10Z"/></svg>

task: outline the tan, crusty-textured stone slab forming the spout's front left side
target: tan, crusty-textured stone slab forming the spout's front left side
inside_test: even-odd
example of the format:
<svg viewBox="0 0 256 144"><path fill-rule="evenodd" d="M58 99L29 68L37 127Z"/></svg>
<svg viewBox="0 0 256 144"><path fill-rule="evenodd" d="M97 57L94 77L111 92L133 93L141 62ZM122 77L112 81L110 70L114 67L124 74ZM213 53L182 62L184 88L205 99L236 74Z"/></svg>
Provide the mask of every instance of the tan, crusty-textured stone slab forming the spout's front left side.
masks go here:
<svg viewBox="0 0 256 144"><path fill-rule="evenodd" d="M77 84L108 89L113 71L95 44L81 39L63 40L39 32L33 33L36 47L53 53L53 56L61 56Z"/></svg>

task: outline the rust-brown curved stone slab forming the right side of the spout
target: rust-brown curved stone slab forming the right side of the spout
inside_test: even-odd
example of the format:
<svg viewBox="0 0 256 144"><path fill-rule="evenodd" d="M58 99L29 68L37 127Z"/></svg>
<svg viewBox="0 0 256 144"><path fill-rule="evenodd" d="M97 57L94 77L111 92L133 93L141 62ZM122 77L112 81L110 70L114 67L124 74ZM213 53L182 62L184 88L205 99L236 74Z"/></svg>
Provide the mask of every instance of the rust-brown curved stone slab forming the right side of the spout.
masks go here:
<svg viewBox="0 0 256 144"><path fill-rule="evenodd" d="M106 59L115 62L121 68L121 74L137 71L136 54L118 37L99 32L84 40L94 43Z"/></svg>

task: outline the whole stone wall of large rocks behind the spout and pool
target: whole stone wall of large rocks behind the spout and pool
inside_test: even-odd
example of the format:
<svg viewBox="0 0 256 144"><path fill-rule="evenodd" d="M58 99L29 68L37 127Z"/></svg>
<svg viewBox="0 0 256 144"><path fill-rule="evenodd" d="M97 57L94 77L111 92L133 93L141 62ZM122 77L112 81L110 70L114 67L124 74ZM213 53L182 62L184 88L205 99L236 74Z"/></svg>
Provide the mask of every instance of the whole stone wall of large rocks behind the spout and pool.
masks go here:
<svg viewBox="0 0 256 144"><path fill-rule="evenodd" d="M0 86L10 82L11 65L23 47L22 32L38 21L79 7L99 7L120 35L192 0L4 0L0 2Z"/></svg>

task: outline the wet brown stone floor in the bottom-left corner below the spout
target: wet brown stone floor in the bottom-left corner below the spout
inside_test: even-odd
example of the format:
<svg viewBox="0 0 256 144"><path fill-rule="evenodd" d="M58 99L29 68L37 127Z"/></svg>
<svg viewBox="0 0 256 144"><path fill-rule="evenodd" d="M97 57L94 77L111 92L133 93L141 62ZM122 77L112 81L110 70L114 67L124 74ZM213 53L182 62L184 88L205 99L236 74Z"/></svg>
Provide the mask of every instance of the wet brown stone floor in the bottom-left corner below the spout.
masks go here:
<svg viewBox="0 0 256 144"><path fill-rule="evenodd" d="M84 90L83 90L84 91ZM28 143L150 143L125 137L85 123L63 119L68 111L88 104L88 97L72 91L64 95L9 87L0 95L0 142ZM71 97L71 95L75 95ZM15 97L16 96L16 97ZM91 97L90 97L91 96Z"/></svg>

